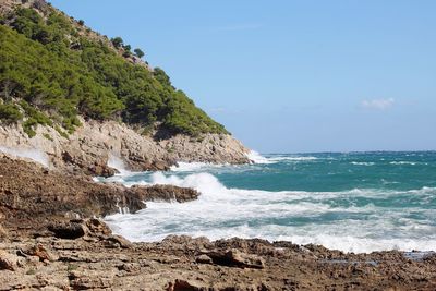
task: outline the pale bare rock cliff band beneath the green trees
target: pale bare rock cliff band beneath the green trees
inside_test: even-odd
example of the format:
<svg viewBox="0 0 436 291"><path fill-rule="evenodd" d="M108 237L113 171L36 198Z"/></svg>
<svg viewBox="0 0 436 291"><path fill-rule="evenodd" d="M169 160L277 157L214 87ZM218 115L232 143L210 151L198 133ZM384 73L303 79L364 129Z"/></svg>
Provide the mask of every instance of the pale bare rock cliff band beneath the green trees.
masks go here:
<svg viewBox="0 0 436 291"><path fill-rule="evenodd" d="M82 122L68 137L50 126L38 126L32 138L20 125L0 126L0 151L38 150L50 168L105 177L122 167L144 171L167 170L178 161L249 162L249 149L230 135L175 135L158 141L113 121Z"/></svg>

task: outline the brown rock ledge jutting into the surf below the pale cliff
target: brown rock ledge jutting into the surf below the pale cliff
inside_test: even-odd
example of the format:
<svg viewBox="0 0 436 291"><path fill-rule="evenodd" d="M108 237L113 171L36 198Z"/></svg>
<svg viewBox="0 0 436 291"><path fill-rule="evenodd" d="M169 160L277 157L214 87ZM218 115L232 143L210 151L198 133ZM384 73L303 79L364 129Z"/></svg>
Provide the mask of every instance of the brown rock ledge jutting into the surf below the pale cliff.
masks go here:
<svg viewBox="0 0 436 291"><path fill-rule="evenodd" d="M0 155L0 226L5 229L3 232L37 233L50 219L134 213L145 208L146 201L186 202L197 196L194 190L171 185L128 189L121 184L96 183L85 175L68 175ZM56 228L53 230L56 232ZM81 237L83 231L71 225L69 235Z"/></svg>

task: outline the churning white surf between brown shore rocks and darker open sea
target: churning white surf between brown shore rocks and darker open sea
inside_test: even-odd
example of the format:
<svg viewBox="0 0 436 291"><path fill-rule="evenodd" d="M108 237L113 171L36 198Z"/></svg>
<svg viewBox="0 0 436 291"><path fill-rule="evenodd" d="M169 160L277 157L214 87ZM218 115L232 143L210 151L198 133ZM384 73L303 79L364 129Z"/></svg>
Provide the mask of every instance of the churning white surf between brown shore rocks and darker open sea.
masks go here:
<svg viewBox="0 0 436 291"><path fill-rule="evenodd" d="M150 175L150 183L193 187L201 196L183 204L152 202L137 214L109 216L106 219L116 233L132 241L160 241L169 234L187 234L211 240L232 237L287 240L344 252L436 251L436 227L432 221L404 217L419 210L432 218L436 210L413 207L396 210L373 203L353 204L355 197L374 201L399 194L431 197L436 191L434 187L409 192L368 189L269 192L228 189L216 177L204 172L186 177L156 172ZM331 204L338 198L351 201L342 206Z"/></svg>

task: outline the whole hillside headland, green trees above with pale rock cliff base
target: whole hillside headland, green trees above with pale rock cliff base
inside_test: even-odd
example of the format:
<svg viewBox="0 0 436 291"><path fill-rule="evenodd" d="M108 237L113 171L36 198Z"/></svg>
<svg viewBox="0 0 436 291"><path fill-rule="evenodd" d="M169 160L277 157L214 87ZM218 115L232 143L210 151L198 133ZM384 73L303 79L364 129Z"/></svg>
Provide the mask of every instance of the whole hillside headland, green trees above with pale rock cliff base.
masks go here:
<svg viewBox="0 0 436 291"><path fill-rule="evenodd" d="M46 166L93 175L113 174L113 160L134 171L249 162L247 148L121 37L44 0L2 1L0 23L0 151L37 150Z"/></svg>

